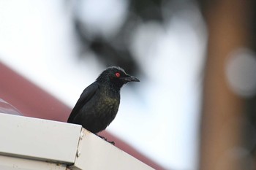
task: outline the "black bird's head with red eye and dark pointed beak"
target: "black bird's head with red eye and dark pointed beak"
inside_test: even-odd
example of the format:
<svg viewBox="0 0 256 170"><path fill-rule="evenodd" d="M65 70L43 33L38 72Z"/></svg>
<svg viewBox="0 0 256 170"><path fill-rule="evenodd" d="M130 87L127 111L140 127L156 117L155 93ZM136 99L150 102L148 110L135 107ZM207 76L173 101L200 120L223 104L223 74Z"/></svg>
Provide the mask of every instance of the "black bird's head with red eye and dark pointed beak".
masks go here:
<svg viewBox="0 0 256 170"><path fill-rule="evenodd" d="M116 86L116 88L121 88L127 82L140 82L138 78L127 74L124 69L118 66L110 66L105 69L99 77L97 78L99 82L109 82L110 85Z"/></svg>

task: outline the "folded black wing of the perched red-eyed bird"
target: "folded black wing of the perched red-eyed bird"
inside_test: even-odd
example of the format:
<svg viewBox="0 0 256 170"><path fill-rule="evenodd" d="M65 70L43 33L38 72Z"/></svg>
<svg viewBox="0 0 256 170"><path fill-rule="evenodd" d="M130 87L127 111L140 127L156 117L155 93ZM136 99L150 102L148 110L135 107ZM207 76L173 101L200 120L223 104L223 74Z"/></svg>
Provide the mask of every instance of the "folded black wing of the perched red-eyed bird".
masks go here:
<svg viewBox="0 0 256 170"><path fill-rule="evenodd" d="M87 101L92 98L92 96L94 96L98 89L99 85L97 84L97 82L94 82L89 85L85 90L83 90L83 93L81 94L80 98L75 104L75 107L72 109L72 112L69 115L69 118L67 120L68 123L72 123L79 110L84 106L84 104L86 104Z"/></svg>

